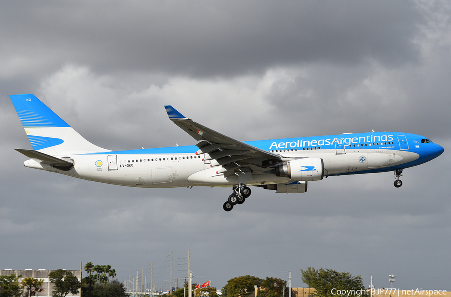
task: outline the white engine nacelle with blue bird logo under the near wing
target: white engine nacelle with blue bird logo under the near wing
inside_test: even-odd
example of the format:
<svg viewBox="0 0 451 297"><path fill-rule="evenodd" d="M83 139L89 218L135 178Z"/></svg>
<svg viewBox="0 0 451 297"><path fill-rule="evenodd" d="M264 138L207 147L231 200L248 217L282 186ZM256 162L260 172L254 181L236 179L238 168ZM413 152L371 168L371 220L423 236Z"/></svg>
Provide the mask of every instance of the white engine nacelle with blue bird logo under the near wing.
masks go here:
<svg viewBox="0 0 451 297"><path fill-rule="evenodd" d="M321 158L303 158L285 162L276 167L276 176L290 180L313 181L324 177L324 162Z"/></svg>

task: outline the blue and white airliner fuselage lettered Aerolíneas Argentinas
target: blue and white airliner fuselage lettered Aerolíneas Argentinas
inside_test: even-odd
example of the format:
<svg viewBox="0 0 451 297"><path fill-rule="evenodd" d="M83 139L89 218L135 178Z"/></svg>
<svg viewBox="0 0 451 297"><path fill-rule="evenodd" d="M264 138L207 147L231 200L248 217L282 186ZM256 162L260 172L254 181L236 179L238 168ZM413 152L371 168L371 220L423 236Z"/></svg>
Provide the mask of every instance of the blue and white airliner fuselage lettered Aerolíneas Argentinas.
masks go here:
<svg viewBox="0 0 451 297"><path fill-rule="evenodd" d="M427 141L427 142L426 142ZM372 132L319 137L286 138L245 142L290 160L320 158L324 176L394 171L427 162L437 156L437 145L427 138L407 133ZM238 175L217 173L220 166L196 154L197 146L177 146L126 151L74 154L68 171L28 160L25 166L73 177L133 187L234 186ZM250 165L248 185L291 181L270 169ZM275 164L276 165L276 164Z"/></svg>

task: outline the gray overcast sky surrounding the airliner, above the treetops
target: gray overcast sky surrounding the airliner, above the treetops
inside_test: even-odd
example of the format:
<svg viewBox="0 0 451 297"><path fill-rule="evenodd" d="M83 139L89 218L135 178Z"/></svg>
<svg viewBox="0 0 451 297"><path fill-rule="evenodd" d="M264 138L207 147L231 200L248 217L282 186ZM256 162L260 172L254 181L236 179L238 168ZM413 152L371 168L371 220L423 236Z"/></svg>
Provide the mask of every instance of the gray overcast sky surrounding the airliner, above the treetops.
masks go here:
<svg viewBox="0 0 451 297"><path fill-rule="evenodd" d="M0 3L0 268L144 268L168 289L251 274L303 286L309 266L376 287L451 290L448 1ZM331 177L305 194L136 189L23 166L10 94L33 93L112 150L195 144L163 105L240 140L402 131L444 147L393 173ZM181 264L181 265L180 265ZM160 268L158 268L160 267ZM156 270L156 269L159 270ZM158 271L158 272L157 272ZM159 275L157 275L159 274Z"/></svg>

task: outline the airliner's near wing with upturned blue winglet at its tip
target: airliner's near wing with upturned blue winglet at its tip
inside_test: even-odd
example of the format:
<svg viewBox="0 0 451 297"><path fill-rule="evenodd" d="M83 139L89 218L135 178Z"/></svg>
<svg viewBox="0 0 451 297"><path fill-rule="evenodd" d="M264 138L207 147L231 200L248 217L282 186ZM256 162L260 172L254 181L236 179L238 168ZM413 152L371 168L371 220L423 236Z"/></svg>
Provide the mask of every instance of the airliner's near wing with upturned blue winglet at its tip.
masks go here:
<svg viewBox="0 0 451 297"><path fill-rule="evenodd" d="M196 154L207 153L205 160L215 160L222 165L225 171L242 167L242 165L253 164L262 168L274 167L276 162L282 162L277 154L262 150L242 141L220 134L191 119L184 117L172 106L166 105L166 112L175 125L182 128L195 140L199 150ZM240 163L240 164L237 164ZM228 169L230 168L230 169ZM224 172L224 170L221 170Z"/></svg>

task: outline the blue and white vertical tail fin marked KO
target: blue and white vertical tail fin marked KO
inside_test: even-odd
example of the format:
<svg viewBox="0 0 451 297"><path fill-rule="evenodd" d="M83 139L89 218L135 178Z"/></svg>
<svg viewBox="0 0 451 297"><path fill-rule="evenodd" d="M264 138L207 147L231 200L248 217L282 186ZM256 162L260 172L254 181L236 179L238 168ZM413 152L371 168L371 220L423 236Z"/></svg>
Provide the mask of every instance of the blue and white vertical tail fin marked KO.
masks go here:
<svg viewBox="0 0 451 297"><path fill-rule="evenodd" d="M35 95L10 98L35 151L51 156L108 151L83 138Z"/></svg>

